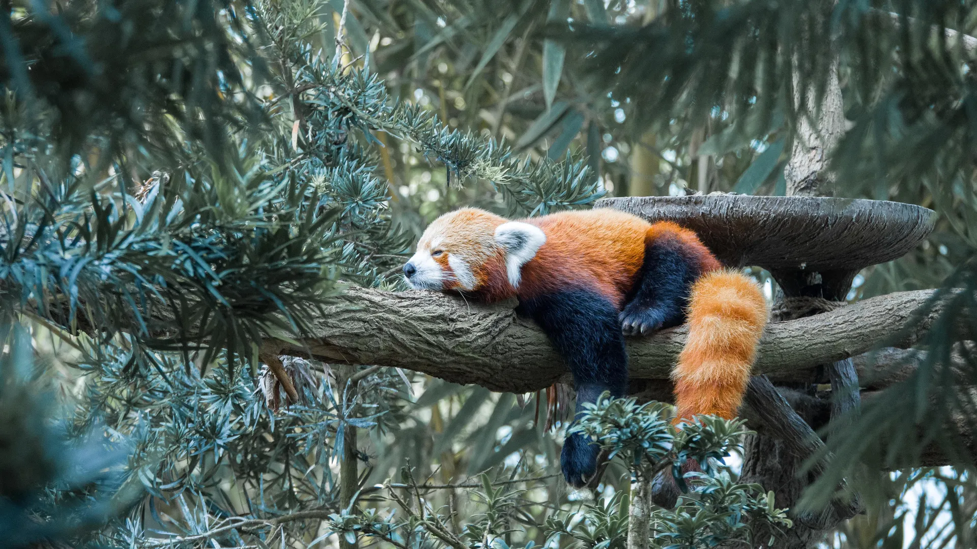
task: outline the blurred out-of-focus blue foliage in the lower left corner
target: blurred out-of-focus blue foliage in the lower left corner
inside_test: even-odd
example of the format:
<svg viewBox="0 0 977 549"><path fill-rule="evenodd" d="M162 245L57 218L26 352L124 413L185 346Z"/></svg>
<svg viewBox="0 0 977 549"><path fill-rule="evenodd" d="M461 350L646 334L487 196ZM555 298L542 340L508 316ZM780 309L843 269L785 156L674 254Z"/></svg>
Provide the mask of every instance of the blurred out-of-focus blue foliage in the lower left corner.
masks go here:
<svg viewBox="0 0 977 549"><path fill-rule="evenodd" d="M64 410L36 379L30 333L2 324L0 341L3 546L36 547L101 528L142 493L127 472L131 443L99 430L72 436Z"/></svg>

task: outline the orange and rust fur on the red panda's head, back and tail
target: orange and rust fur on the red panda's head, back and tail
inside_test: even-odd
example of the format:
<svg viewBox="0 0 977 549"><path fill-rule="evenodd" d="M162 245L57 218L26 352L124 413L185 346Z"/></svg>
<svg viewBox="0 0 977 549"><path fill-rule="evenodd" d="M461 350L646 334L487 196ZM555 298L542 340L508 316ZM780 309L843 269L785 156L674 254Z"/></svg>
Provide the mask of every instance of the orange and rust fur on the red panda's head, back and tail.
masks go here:
<svg viewBox="0 0 977 549"><path fill-rule="evenodd" d="M519 287L506 275L494 230L505 219L474 208L439 218L418 244L432 242L463 257L478 281L474 292L492 302L565 290L594 288L618 311L638 281L646 246L658 238L678 239L686 257L703 273L694 284L687 309L689 338L672 373L676 421L697 414L737 415L755 350L767 320L767 306L748 276L721 270L695 232L674 223L648 222L616 210L562 212L522 220L546 234L545 243L522 268ZM450 272L446 256L436 261Z"/></svg>

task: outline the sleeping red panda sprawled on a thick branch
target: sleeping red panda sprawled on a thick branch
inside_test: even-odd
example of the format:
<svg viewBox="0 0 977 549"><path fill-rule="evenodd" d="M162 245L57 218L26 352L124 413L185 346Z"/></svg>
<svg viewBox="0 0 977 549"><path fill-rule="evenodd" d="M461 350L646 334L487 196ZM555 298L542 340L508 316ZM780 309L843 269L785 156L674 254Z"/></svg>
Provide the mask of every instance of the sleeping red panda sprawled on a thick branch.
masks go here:
<svg viewBox="0 0 977 549"><path fill-rule="evenodd" d="M767 305L745 274L721 269L695 232L611 209L508 221L477 208L435 220L404 265L415 289L459 292L484 302L519 299L573 372L576 413L604 392L627 390L624 335L688 321L672 372L676 422L737 415L767 321ZM598 448L568 437L567 482L584 486Z"/></svg>

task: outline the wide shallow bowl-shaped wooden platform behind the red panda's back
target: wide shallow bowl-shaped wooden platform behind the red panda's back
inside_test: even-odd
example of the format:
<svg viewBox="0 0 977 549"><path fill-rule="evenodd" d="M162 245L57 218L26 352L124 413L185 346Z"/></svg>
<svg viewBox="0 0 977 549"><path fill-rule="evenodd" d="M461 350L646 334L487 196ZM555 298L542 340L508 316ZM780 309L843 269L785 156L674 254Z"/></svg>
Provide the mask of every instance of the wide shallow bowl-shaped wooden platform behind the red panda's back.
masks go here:
<svg viewBox="0 0 977 549"><path fill-rule="evenodd" d="M622 196L595 207L695 231L729 267L858 271L906 255L933 231L932 210L884 200L815 196Z"/></svg>

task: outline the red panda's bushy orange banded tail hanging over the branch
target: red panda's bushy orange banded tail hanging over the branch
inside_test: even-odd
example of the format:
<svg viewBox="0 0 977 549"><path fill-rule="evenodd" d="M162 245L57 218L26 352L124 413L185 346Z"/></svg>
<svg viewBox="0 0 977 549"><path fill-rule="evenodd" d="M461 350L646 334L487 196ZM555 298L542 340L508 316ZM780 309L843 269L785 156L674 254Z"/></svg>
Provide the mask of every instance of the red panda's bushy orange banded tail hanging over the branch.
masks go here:
<svg viewBox="0 0 977 549"><path fill-rule="evenodd" d="M752 278L733 271L703 275L689 300L689 339L672 372L675 421L695 415L737 416L767 303Z"/></svg>

